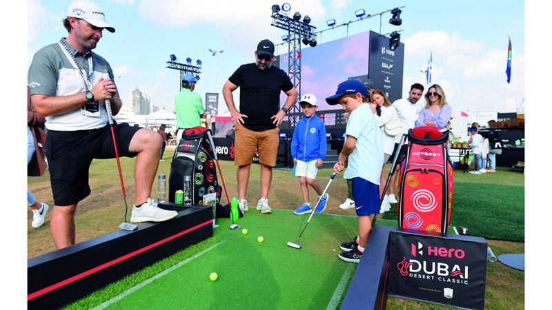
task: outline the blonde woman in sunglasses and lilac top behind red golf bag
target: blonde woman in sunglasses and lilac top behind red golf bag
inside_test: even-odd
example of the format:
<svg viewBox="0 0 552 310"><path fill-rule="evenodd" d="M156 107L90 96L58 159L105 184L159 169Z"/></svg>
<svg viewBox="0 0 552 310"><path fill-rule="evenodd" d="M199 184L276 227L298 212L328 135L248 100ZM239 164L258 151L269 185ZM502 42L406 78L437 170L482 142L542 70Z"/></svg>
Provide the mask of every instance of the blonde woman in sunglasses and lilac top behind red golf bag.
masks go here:
<svg viewBox="0 0 552 310"><path fill-rule="evenodd" d="M416 127L430 125L444 128L451 121L453 109L446 102L446 96L442 87L438 84L431 85L425 97L426 106L420 112L420 116L418 116Z"/></svg>

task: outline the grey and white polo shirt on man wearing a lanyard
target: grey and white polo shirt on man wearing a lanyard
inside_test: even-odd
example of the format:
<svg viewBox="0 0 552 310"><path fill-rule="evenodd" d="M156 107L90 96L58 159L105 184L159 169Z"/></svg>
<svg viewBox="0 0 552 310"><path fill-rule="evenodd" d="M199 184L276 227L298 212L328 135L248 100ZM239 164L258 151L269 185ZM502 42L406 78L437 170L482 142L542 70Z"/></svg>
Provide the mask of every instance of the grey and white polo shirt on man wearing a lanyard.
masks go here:
<svg viewBox="0 0 552 310"><path fill-rule="evenodd" d="M65 38L62 40L66 42L69 54L75 58L85 78L90 73L89 59L92 57L93 71L90 76L92 86L101 78L113 80L113 72L106 59L94 52L81 54L67 43ZM86 91L86 83L81 74L71 64L59 43L47 45L34 54L28 72L28 85L31 96L33 94L69 96ZM117 93L115 96L119 96L119 94ZM108 117L103 101L100 101L99 104L99 117L85 116L81 112L81 108L63 114L46 116L48 130L90 130L103 127L106 123L108 123Z"/></svg>

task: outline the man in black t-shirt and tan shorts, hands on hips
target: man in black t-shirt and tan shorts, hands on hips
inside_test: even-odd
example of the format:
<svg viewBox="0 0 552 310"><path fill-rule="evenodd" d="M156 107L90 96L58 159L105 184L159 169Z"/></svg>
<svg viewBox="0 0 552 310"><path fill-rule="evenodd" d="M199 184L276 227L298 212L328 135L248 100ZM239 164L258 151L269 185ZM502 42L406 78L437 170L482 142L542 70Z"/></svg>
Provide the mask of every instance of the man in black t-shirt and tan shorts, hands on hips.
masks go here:
<svg viewBox="0 0 552 310"><path fill-rule="evenodd" d="M235 158L237 168L237 190L239 209L248 210L246 200L250 166L255 152L261 164L261 198L257 210L262 214L272 212L268 206L268 190L272 181L272 168L276 165L279 143L278 126L288 109L297 100L297 90L293 87L284 70L274 67L274 43L262 40L255 51L255 63L241 65L228 78L222 88L224 101L236 124ZM240 87L239 110L234 104L232 92ZM288 98L279 107L280 92Z"/></svg>

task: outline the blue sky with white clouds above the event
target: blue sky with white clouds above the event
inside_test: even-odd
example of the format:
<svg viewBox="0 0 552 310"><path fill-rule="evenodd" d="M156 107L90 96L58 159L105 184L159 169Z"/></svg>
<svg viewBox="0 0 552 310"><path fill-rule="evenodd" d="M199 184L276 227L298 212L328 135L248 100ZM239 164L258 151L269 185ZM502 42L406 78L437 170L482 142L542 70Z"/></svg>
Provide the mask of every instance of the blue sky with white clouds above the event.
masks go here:
<svg viewBox="0 0 552 310"><path fill-rule="evenodd" d="M28 64L32 54L54 43L66 30L61 25L71 1L28 1ZM131 107L131 90L144 87L152 104L173 110L172 99L179 90L179 72L166 69L170 54L184 62L190 56L203 61L196 92L221 92L228 76L242 63L253 62L253 51L261 39L281 43L284 30L270 25L270 7L275 1L97 1L106 20L117 30L104 31L95 52L115 70L123 102ZM391 25L391 13L382 15L381 33L400 32L405 44L404 90L423 82L433 51L433 83L444 87L455 114L462 111L514 112L524 99L524 2L511 1L290 1L291 12L308 14L317 30L326 20L337 24L355 20L355 10L377 14L402 9L403 23ZM380 32L380 16L326 31L319 42L341 39L373 30ZM506 85L508 35L513 44L512 79ZM217 59L208 49L224 50ZM279 45L280 54L287 50ZM336 74L341 75L341 74ZM119 77L120 76L120 77ZM305 82L305 81L304 81ZM336 87L335 85L328 87ZM308 90L303 90L304 92ZM237 93L235 94L237 97ZM219 100L219 112L226 105Z"/></svg>

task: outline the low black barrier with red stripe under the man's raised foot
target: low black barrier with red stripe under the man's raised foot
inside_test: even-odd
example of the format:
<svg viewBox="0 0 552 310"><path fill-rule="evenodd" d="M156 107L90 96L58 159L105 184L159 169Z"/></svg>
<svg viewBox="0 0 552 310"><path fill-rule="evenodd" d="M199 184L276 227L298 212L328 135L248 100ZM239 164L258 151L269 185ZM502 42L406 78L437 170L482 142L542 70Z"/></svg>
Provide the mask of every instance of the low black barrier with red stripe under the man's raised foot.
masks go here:
<svg viewBox="0 0 552 310"><path fill-rule="evenodd" d="M178 213L30 258L28 309L58 309L213 236L212 209L181 207Z"/></svg>

